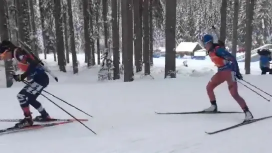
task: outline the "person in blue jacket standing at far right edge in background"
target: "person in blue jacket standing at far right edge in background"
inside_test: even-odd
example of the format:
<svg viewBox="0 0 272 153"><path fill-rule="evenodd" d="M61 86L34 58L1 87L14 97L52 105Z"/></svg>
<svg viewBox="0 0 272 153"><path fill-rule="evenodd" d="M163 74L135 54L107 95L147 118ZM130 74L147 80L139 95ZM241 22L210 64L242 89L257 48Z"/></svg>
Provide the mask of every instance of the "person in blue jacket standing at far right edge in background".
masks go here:
<svg viewBox="0 0 272 153"><path fill-rule="evenodd" d="M260 55L260 68L263 74L272 74L272 69L270 68L270 61L272 60L271 58L271 51L269 49L263 49L263 50L258 50L258 54Z"/></svg>

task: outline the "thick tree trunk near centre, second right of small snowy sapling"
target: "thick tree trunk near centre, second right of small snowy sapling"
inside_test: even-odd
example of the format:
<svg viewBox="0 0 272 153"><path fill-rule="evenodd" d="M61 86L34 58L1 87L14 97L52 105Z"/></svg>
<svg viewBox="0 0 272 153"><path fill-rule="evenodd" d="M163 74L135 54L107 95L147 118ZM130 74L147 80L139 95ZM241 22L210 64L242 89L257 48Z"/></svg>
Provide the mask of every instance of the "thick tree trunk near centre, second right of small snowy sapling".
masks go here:
<svg viewBox="0 0 272 153"><path fill-rule="evenodd" d="M122 48L124 63L124 81L134 80L133 74L133 15L132 0L122 0Z"/></svg>

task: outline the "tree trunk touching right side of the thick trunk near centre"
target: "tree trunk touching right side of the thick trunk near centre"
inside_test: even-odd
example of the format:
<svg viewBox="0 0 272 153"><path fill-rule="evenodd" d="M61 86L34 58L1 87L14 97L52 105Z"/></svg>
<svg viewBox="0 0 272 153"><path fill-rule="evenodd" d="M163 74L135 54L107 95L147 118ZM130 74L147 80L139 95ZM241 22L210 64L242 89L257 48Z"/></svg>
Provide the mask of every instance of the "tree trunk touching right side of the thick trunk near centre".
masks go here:
<svg viewBox="0 0 272 153"><path fill-rule="evenodd" d="M140 22L140 8L139 1L133 0L133 19L134 19L134 64L136 66L136 72L142 71L142 33Z"/></svg>

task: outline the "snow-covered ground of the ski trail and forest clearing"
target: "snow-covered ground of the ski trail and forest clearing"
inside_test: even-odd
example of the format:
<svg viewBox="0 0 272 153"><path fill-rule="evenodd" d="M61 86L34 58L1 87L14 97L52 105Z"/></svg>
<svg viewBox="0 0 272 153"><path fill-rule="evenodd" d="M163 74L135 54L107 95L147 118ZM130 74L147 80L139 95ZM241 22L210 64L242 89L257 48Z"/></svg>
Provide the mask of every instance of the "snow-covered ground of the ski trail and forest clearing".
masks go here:
<svg viewBox="0 0 272 153"><path fill-rule="evenodd" d="M79 123L70 123L39 130L0 135L0 153L271 153L272 119L243 126L216 135L211 132L240 123L244 114L156 115L158 112L200 111L210 106L206 84L216 72L209 60L177 59L176 79L164 78L164 58L154 58L150 77L135 74L134 82L97 81L98 68L87 69L83 54L79 74L73 75L71 64L67 73L56 72L59 82L51 79L48 92L83 109L94 118L53 99L57 104L86 123L97 135ZM57 70L49 55L46 63ZM244 63L239 63L244 73ZM270 92L271 76L259 75L259 63L252 63L252 74L245 80ZM0 72L2 73L2 71ZM21 118L16 94L23 87L0 88L1 119ZM272 115L272 103L239 85L255 118ZM241 111L229 95L227 84L216 90L220 111ZM45 94L46 95L46 94ZM54 118L70 118L48 100L38 100ZM33 115L38 115L32 109ZM0 122L0 129L14 123Z"/></svg>

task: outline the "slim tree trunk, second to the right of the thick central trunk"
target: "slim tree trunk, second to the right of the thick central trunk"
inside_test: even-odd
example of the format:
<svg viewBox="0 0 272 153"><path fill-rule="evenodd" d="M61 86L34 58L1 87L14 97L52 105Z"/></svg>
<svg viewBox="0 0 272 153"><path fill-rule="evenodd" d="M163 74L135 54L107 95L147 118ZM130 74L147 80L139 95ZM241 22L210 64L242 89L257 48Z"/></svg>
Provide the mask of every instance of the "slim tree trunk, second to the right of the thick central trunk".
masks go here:
<svg viewBox="0 0 272 153"><path fill-rule="evenodd" d="M145 75L150 75L150 47L149 47L149 0L143 1L143 26L144 26L144 64Z"/></svg>

